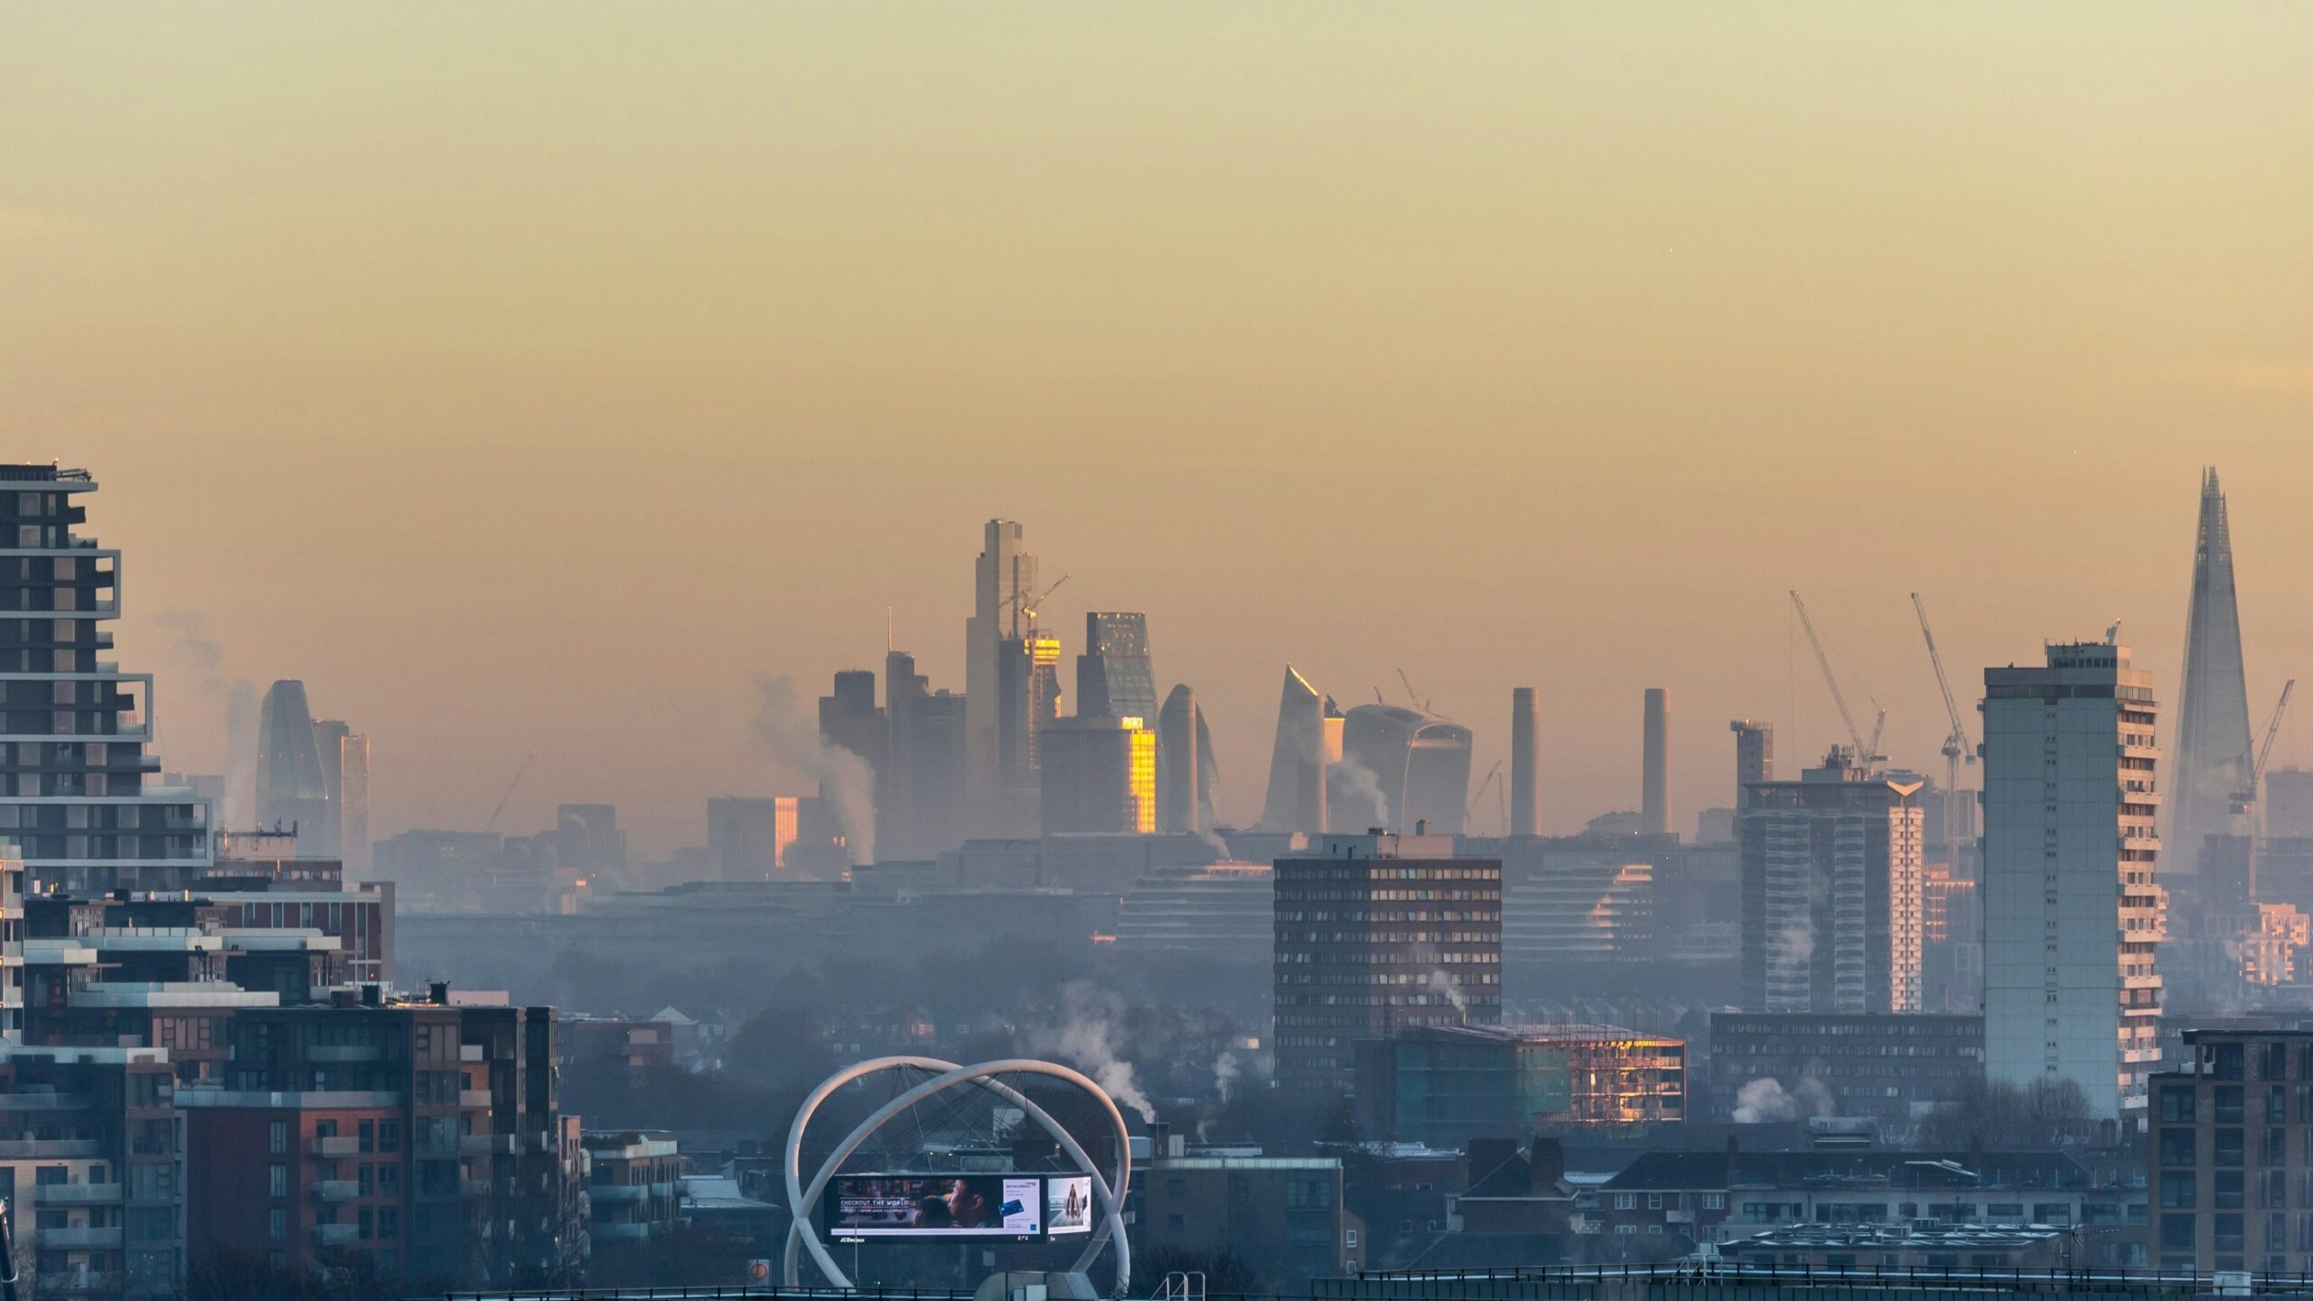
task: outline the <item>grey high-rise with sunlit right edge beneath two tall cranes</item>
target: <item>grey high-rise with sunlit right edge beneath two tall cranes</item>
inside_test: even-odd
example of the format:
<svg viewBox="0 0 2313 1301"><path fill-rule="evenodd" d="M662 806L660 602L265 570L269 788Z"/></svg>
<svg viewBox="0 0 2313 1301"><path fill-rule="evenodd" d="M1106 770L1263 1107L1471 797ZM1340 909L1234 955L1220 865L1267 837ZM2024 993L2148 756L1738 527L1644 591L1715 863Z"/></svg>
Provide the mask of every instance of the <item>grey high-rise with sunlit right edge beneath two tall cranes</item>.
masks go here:
<svg viewBox="0 0 2313 1301"><path fill-rule="evenodd" d="M1795 782L1753 780L1742 845L1746 1012L1920 1012L1920 782L1834 748Z"/></svg>

